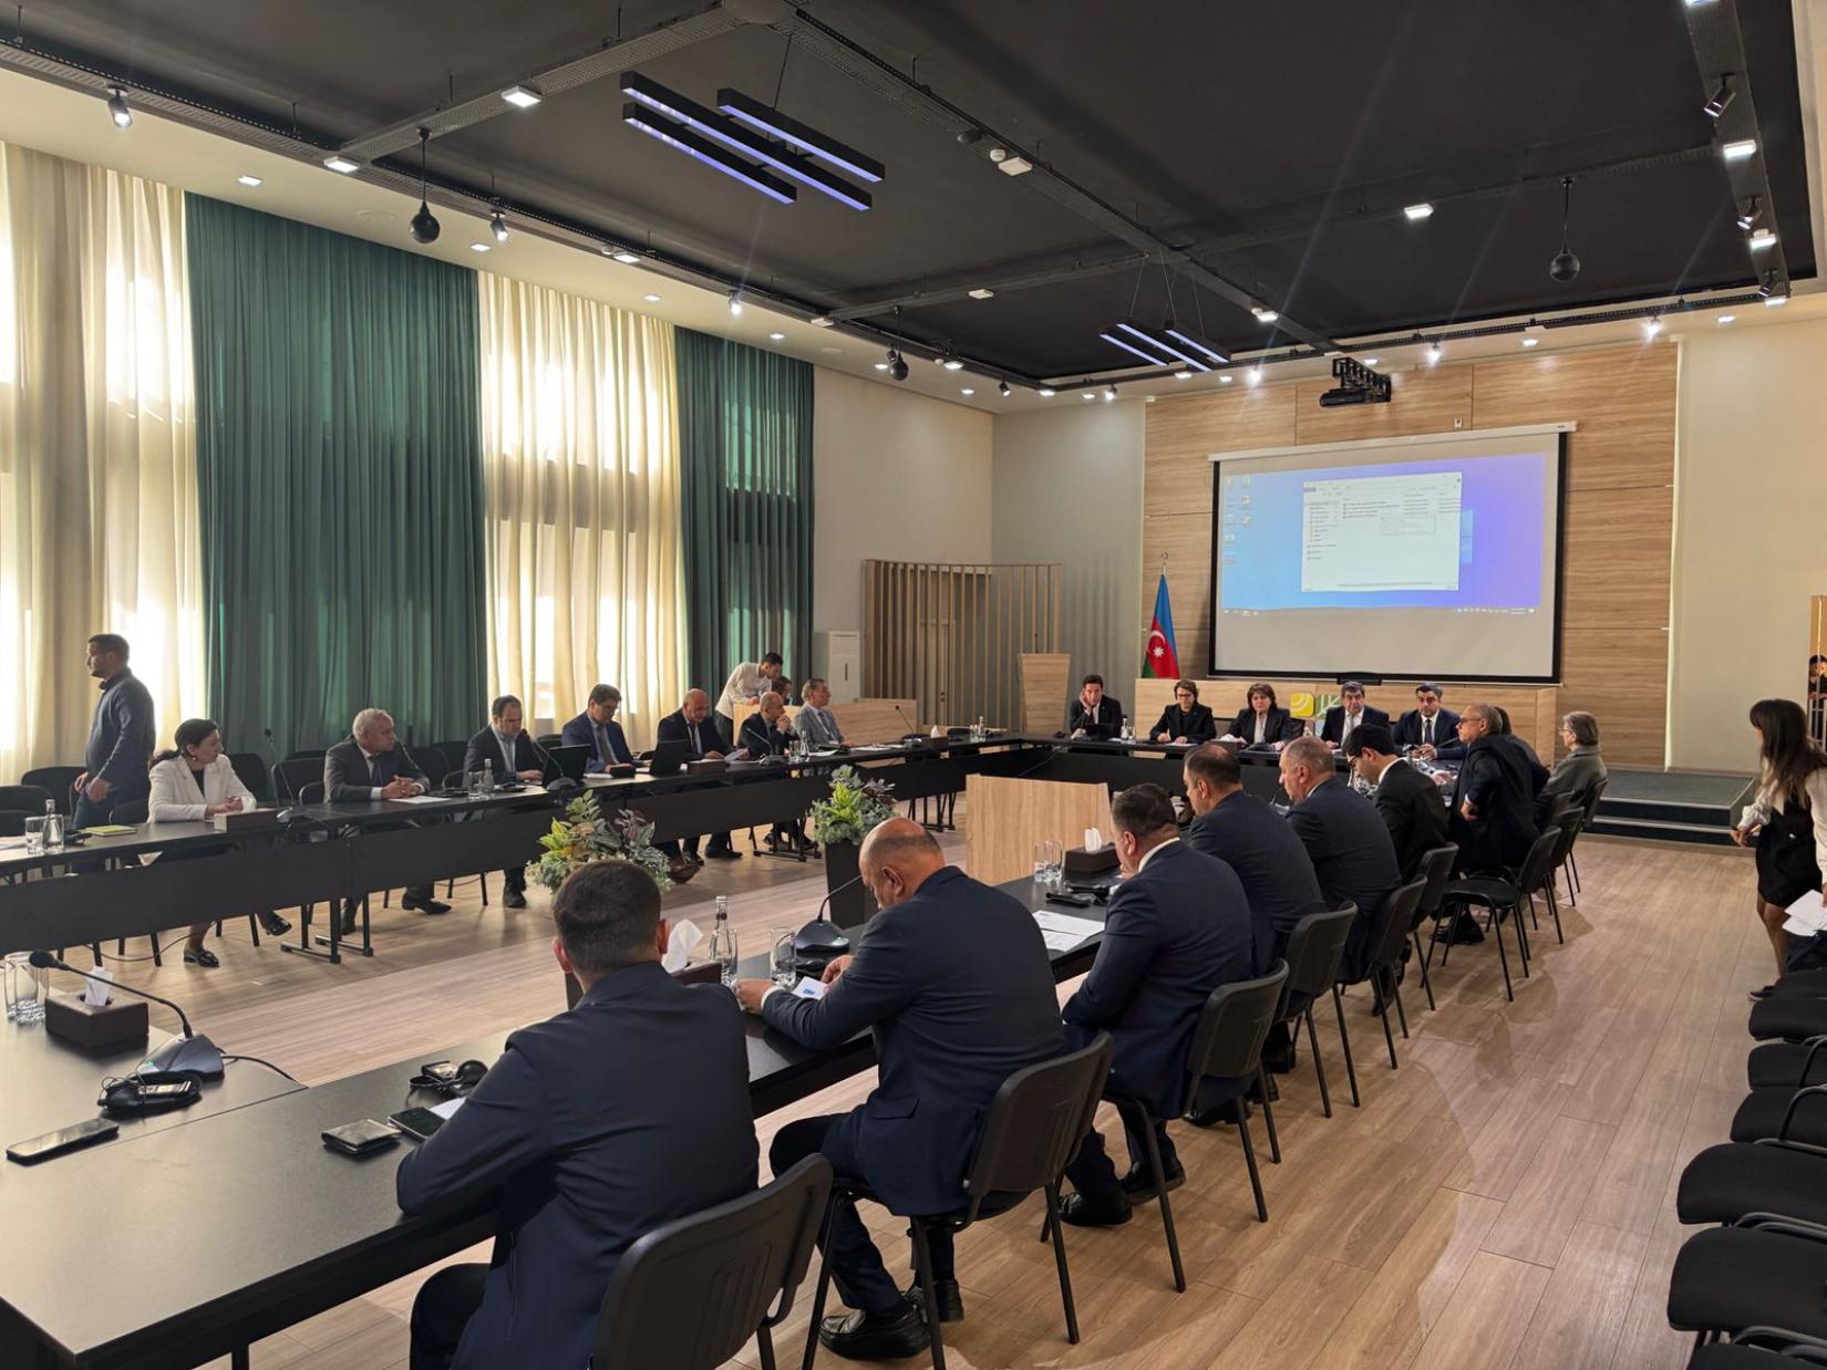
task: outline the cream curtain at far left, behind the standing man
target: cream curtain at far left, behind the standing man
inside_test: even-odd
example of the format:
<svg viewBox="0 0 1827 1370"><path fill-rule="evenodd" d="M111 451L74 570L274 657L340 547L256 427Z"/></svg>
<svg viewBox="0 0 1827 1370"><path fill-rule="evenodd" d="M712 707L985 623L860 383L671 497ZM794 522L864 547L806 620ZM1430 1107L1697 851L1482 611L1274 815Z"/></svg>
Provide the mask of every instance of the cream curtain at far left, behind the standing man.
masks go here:
<svg viewBox="0 0 1827 1370"><path fill-rule="evenodd" d="M183 192L0 146L0 784L82 762L91 632L205 711L190 364Z"/></svg>

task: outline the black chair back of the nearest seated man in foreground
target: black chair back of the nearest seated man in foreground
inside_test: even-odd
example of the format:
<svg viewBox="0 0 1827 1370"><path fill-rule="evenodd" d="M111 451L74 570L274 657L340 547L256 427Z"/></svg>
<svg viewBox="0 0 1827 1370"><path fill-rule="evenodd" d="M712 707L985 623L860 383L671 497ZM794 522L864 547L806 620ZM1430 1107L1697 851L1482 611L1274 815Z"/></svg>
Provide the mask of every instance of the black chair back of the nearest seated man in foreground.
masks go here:
<svg viewBox="0 0 1827 1370"><path fill-rule="evenodd" d="M616 1264L596 1323L596 1370L716 1370L755 1337L775 1370L773 1328L793 1312L831 1193L808 1156L764 1189L656 1228Z"/></svg>

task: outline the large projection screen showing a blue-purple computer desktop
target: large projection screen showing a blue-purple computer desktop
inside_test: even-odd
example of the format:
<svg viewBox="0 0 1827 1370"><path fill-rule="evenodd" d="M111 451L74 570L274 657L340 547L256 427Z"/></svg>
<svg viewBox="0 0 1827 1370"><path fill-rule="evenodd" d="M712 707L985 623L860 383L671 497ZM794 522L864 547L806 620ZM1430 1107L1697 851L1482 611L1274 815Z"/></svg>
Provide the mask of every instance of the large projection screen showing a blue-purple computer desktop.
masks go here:
<svg viewBox="0 0 1827 1370"><path fill-rule="evenodd" d="M1568 435L1575 429L1571 422L1529 424L1213 453L1211 678L1558 683ZM1262 477L1266 490L1255 484ZM1253 493L1253 504L1239 486ZM1378 579L1387 583L1359 586L1348 583L1350 530L1315 533L1328 528L1328 490L1348 490L1356 515L1365 497L1387 497L1396 510L1414 497L1423 508L1451 508L1458 521L1423 524L1436 532L1410 539L1412 581L1385 557ZM1244 513L1250 522L1235 524ZM1431 537L1447 543L1431 546ZM1456 559L1454 546L1462 548ZM1226 552L1246 555L1251 566L1239 577L1233 555L1230 595ZM1352 603L1354 592L1365 592L1363 605ZM1537 617L1544 608L1546 625ZM1504 619L1526 632L1507 632ZM1463 632L1447 636L1454 628ZM1325 647L1301 652L1301 641Z"/></svg>

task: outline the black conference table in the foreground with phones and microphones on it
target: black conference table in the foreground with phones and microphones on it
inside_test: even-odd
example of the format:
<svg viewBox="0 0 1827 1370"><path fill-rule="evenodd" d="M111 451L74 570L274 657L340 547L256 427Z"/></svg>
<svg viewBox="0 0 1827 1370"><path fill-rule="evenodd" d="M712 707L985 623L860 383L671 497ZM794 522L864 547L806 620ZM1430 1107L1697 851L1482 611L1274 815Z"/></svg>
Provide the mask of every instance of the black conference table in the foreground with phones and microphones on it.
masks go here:
<svg viewBox="0 0 1827 1370"><path fill-rule="evenodd" d="M1029 910L1049 908L1032 880L1001 888ZM1054 912L1104 917L1102 906ZM1052 952L1054 977L1089 970L1098 941ZM767 974L766 959L745 968ZM755 1017L745 1030L756 1116L875 1063L870 1034L809 1050ZM238 1061L181 1114L33 1167L4 1165L0 1359L7 1370L188 1370L230 1355L239 1368L254 1341L491 1237L488 1193L431 1215L398 1211L395 1169L411 1142L349 1160L320 1134L435 1101L409 1085L424 1061L493 1061L506 1038L491 1032L311 1089ZM122 1063L0 1023L0 1101L22 1085L38 1094L20 1114L0 1111L0 1123L16 1116L48 1131L91 1116L104 1067Z"/></svg>

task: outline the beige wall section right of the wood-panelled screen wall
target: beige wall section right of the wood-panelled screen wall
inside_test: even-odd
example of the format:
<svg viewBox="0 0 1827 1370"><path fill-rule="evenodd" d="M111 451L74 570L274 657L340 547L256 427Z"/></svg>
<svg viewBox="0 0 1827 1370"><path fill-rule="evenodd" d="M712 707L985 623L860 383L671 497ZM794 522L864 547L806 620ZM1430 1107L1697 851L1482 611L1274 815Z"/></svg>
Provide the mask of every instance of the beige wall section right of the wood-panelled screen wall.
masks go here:
<svg viewBox="0 0 1827 1370"><path fill-rule="evenodd" d="M1750 771L1745 711L1800 698L1827 594L1827 321L1714 329L1681 351L1670 764Z"/></svg>

